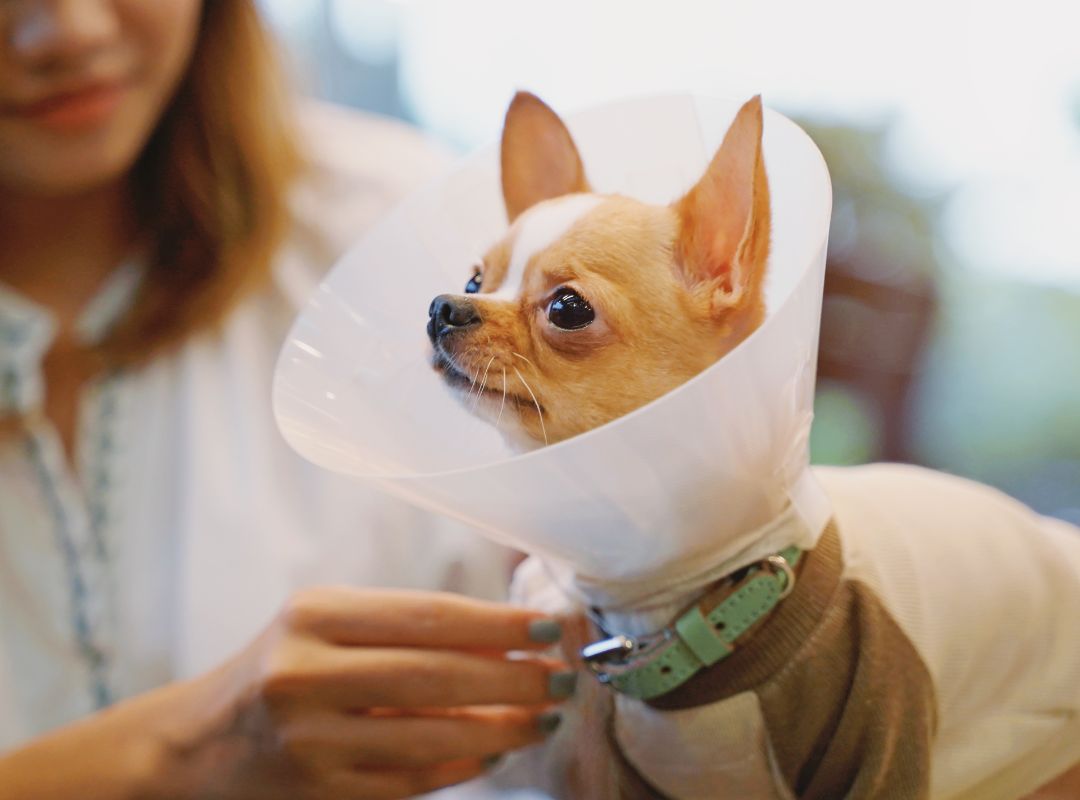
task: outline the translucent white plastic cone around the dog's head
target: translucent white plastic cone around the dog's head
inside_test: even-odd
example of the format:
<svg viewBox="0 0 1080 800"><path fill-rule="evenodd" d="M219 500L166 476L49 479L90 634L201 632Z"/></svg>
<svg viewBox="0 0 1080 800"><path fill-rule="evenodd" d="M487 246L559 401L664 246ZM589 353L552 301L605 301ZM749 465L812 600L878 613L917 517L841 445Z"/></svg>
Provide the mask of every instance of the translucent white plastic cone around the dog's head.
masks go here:
<svg viewBox="0 0 1080 800"><path fill-rule="evenodd" d="M704 172L739 105L651 97L566 121L594 191L670 203ZM772 111L764 147L768 316L693 380L516 456L443 385L429 361L428 306L460 293L507 229L492 147L399 206L314 293L278 363L285 438L321 466L376 480L585 580L692 571L745 551L746 535L788 506L820 516L808 437L831 186L813 143Z"/></svg>

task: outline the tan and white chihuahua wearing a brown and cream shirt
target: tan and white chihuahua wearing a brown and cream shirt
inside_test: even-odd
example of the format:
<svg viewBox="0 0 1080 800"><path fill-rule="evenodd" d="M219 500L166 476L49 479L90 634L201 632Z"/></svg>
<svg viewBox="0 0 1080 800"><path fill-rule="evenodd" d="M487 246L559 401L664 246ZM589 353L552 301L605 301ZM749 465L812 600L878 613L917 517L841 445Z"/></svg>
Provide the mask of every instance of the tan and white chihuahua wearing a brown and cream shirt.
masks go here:
<svg viewBox="0 0 1080 800"><path fill-rule="evenodd" d="M624 415L735 348L765 315L761 133L754 98L698 184L654 206L593 193L566 126L518 94L502 139L510 228L463 294L432 302L436 369L528 448ZM816 477L833 518L791 596L674 691L617 699L625 769L586 775L579 759L563 791L987 800L1080 762L1080 532L914 467ZM622 611L609 622L627 633L672 622Z"/></svg>

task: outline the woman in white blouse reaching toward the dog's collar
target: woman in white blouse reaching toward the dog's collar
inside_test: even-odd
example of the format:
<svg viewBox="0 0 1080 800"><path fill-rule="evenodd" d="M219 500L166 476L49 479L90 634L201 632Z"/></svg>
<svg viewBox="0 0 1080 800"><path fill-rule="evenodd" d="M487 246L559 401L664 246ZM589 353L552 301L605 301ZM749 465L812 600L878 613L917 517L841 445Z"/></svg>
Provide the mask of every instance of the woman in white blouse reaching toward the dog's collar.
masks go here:
<svg viewBox="0 0 1080 800"><path fill-rule="evenodd" d="M268 408L431 153L294 131L248 0L9 0L0 35L0 798L405 797L541 740L572 674L503 654L557 624L417 591L497 597L505 554ZM300 589L335 583L397 591Z"/></svg>

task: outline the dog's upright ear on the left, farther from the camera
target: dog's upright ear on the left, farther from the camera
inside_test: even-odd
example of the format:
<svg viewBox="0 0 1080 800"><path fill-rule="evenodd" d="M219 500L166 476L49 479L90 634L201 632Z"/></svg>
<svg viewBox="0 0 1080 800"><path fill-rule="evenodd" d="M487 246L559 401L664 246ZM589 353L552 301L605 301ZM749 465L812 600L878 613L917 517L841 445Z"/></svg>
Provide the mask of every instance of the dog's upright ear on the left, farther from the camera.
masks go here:
<svg viewBox="0 0 1080 800"><path fill-rule="evenodd" d="M563 120L536 95L515 94L502 126L502 199L510 221L541 200L586 191L585 170Z"/></svg>

